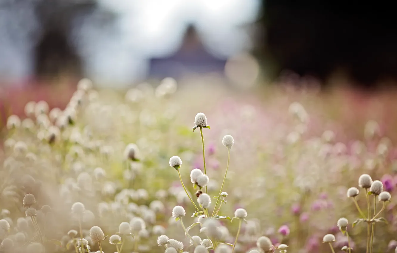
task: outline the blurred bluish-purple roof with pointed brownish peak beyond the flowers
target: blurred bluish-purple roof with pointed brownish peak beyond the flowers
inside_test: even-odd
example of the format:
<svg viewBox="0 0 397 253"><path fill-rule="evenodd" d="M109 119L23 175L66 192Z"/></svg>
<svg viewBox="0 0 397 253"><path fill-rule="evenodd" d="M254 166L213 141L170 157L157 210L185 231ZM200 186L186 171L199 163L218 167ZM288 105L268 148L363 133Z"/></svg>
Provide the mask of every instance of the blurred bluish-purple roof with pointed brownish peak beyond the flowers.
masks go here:
<svg viewBox="0 0 397 253"><path fill-rule="evenodd" d="M195 27L190 25L185 33L181 48L172 56L150 59L149 77L180 78L189 73L218 73L223 75L226 60L210 54L200 40Z"/></svg>

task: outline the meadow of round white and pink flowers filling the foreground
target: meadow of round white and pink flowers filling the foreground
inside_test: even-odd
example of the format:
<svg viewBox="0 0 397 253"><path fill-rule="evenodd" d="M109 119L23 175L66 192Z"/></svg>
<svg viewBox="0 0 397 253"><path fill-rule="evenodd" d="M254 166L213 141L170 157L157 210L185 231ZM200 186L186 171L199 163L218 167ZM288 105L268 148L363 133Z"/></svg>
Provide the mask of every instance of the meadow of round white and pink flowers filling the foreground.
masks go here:
<svg viewBox="0 0 397 253"><path fill-rule="evenodd" d="M274 94L83 79L65 108L27 103L0 154L0 251L397 252L382 125L351 138Z"/></svg>

